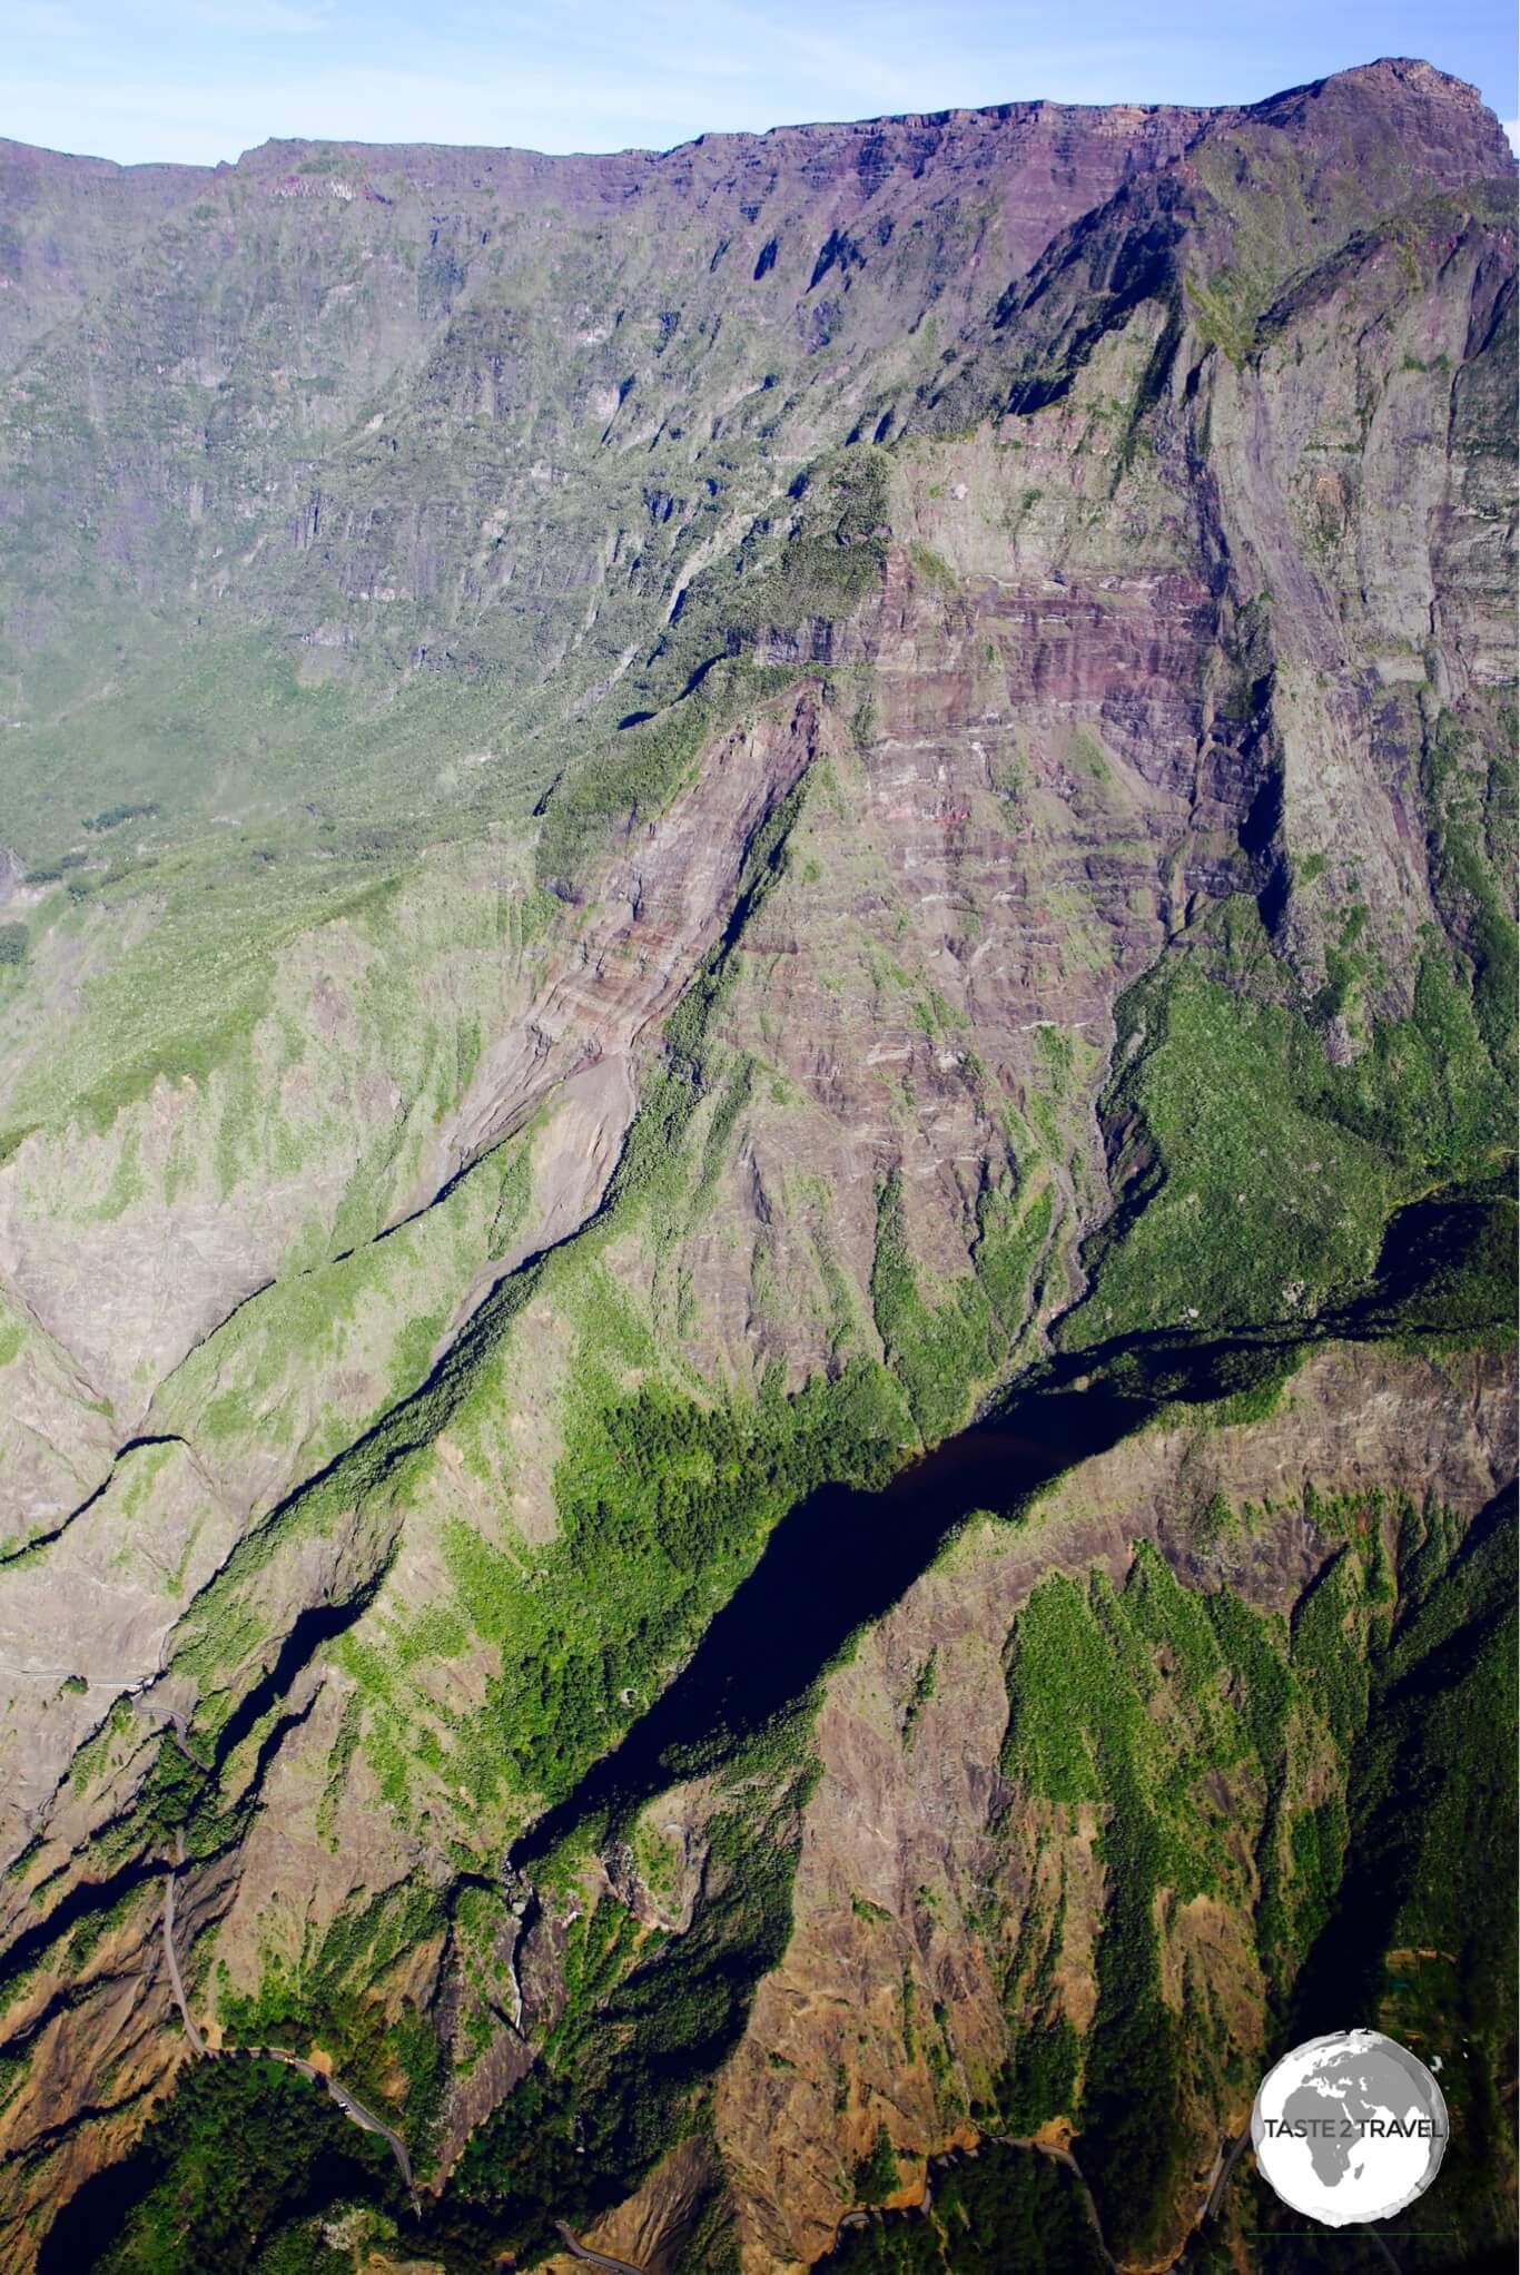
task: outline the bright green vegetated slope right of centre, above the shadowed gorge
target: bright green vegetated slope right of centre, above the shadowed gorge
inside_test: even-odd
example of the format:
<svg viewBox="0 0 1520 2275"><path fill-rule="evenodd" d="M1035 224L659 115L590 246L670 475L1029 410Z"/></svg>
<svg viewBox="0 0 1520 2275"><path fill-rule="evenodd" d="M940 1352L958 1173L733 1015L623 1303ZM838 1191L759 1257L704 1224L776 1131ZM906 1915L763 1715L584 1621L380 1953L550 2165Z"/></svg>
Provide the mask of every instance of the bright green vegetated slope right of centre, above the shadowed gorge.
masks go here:
<svg viewBox="0 0 1520 2275"><path fill-rule="evenodd" d="M1365 1283L1393 1206L1502 1158L1506 1083L1452 965L1427 951L1415 1012L1333 1067L1313 1026L1163 962L1120 1003L1104 1117L1129 1131L1117 1213L1092 1240L1076 1345L1158 1322L1313 1315Z"/></svg>

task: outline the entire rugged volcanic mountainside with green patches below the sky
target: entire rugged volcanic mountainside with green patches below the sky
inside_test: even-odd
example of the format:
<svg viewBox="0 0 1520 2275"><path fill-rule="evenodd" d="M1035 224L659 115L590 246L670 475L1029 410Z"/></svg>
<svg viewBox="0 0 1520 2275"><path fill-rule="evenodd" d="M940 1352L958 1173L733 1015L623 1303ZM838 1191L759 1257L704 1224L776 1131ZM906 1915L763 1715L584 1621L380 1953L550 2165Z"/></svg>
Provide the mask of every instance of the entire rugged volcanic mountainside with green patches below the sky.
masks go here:
<svg viewBox="0 0 1520 2275"><path fill-rule="evenodd" d="M1497 125L7 168L7 2250L221 2264L182 1843L196 2018L389 2113L441 2266L806 2266L976 2129L1163 2264L1388 1749L1495 1838L1399 1715L1488 1697L1513 1474ZM1060 1461L703 1690L794 1504L1038 1365ZM405 2214L266 2118L239 2234Z"/></svg>

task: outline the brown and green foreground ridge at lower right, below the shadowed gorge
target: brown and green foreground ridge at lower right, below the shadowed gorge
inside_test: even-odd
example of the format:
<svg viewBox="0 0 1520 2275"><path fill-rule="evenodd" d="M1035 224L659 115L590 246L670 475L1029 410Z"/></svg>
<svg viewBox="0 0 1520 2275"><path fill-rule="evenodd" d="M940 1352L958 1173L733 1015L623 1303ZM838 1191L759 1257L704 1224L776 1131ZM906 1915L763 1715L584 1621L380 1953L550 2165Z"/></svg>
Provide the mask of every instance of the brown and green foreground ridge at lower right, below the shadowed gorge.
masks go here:
<svg viewBox="0 0 1520 2275"><path fill-rule="evenodd" d="M892 2193L908 2195L967 2118L1013 2136L1076 2125L1110 2250L1172 2261L1215 2152L1304 2018L1292 1986L1336 1918L1347 1797L1354 1811L1358 1779L1377 1774L1361 1768L1377 1727L1368 1679L1372 1693L1406 1681L1388 1640L1411 1631L1413 1597L1463 1536L1431 1552L1431 1513L1477 1513L1511 1474L1504 1392L1493 1376L1490 1406L1481 1374L1333 1349L1261 1422L1176 1415L1074 1470L1026 1527L972 1524L833 1679L796 1925L717 2098L746 2264L806 2266L826 2248L881 2123L903 2150ZM1465 1420L1452 1429L1456 1413L1486 1417L1474 1438ZM1397 1445L1379 1445L1379 1415ZM1513 1520L1495 1511L1463 1549L1488 1556L1477 1618L1500 1627L1509 1542ZM1500 1813L1472 1859L1477 1888L1506 1804L1477 1734L1468 1747L1463 1770L1493 1777ZM1427 1838L1420 1806L1411 1795L1411 1845ZM1449 1870L1461 1836L1434 1845ZM1395 1959L1388 1975L1413 1977L1404 1995L1379 1972L1383 1950L1436 1938L1395 1931L1388 1884L1377 1920L1354 1879L1343 1900L1340 1934L1365 1929L1368 2013L1388 2000L1415 2038L1449 2048L1438 1968L1422 1979ZM1449 1927L1438 1938L1472 1984L1468 2029L1497 1922L1484 1900L1456 1943ZM1320 2027L1338 2027L1345 1997L1329 1988ZM1484 2223L1504 2234L1513 2166L1500 2141L1488 2154L1474 2239ZM1440 2209L1409 2225L1445 2223L1459 2198L1443 2189Z"/></svg>

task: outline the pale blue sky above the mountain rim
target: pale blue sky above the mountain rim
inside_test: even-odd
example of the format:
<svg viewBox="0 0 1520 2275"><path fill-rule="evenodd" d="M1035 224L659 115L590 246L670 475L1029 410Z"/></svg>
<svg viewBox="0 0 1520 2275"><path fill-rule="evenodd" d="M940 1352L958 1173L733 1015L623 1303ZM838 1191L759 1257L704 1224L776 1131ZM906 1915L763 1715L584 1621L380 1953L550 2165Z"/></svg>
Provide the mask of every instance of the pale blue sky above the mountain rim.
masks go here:
<svg viewBox="0 0 1520 2275"><path fill-rule="evenodd" d="M1051 96L1249 102L1377 55L1520 100L1513 0L7 0L0 134L232 159L271 134L664 148Z"/></svg>

